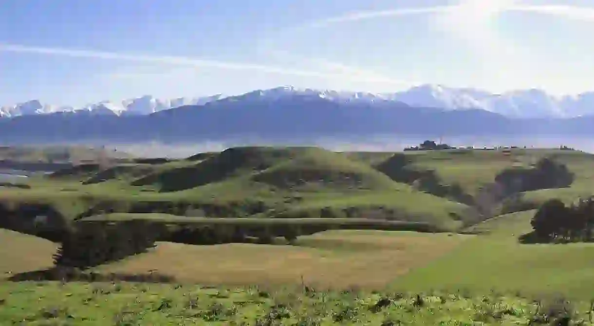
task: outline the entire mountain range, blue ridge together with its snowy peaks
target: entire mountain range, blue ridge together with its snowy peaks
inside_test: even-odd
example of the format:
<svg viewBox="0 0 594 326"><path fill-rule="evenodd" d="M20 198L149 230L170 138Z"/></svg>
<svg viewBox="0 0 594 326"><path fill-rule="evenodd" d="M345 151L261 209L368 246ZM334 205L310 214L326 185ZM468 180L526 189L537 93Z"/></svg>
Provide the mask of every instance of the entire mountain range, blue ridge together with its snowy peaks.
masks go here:
<svg viewBox="0 0 594 326"><path fill-rule="evenodd" d="M118 101L117 106L103 102L81 110L62 111L44 111L46 106L36 101L20 107L20 115L0 119L0 143L174 143L233 139L303 143L324 137L361 139L378 135L594 136L594 114L587 114L590 111L585 104L581 111L572 108L570 113L569 108L557 107L559 103L568 103L567 98L555 101L557 104L552 106L551 97L542 97L540 91L517 94L516 108L508 106L508 114L495 112L495 108L503 110L500 107L503 104L497 103L508 103L492 100L498 98L496 95L439 86L413 88L400 95L277 87L238 96L215 95L192 100L159 101L141 97ZM590 98L593 97L582 94L574 97L573 103L587 103ZM475 107L473 103L483 103L485 107ZM186 105L178 107L178 104ZM531 114L511 114L523 108L530 108Z"/></svg>

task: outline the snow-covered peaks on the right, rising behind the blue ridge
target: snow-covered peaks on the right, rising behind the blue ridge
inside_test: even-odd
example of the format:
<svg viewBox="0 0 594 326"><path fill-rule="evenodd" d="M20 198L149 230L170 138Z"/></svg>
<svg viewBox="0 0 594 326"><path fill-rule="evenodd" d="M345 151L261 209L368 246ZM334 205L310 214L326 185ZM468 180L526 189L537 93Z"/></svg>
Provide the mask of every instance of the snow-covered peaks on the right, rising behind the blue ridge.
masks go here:
<svg viewBox="0 0 594 326"><path fill-rule="evenodd" d="M276 100L290 95L310 95L341 103L394 101L412 107L434 107L443 110L481 109L513 118L568 118L594 115L594 92L563 97L555 97L536 89L494 94L474 88L450 88L432 84L402 92L377 94L285 86L252 91L226 100Z"/></svg>

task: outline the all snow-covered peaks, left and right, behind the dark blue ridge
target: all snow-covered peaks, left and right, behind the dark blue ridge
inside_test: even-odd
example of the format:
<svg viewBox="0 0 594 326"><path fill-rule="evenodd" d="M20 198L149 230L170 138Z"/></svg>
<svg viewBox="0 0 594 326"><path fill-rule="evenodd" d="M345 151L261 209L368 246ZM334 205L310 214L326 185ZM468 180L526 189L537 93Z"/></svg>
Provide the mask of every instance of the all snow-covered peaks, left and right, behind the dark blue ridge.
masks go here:
<svg viewBox="0 0 594 326"><path fill-rule="evenodd" d="M435 107L444 110L480 109L510 118L571 118L594 114L594 91L577 95L553 96L545 91L530 89L494 94L474 88L451 88L426 84L393 93L347 92L278 87L248 93L273 99L286 95L317 95L337 103L374 103L394 101L415 107ZM241 97L240 95L239 97ZM200 106L222 100L225 95L158 99L151 95L119 101L100 101L83 107L42 104L39 100L12 106L0 106L0 117L51 113L115 114L116 116L147 115L181 106Z"/></svg>

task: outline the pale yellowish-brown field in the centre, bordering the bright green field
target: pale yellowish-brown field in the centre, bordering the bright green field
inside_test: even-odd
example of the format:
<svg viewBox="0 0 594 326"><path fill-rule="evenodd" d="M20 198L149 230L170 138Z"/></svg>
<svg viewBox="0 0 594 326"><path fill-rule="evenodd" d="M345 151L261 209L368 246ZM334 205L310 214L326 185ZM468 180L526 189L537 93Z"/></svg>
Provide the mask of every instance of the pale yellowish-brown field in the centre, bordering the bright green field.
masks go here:
<svg viewBox="0 0 594 326"><path fill-rule="evenodd" d="M147 254L100 271L158 273L180 282L295 284L380 288L447 253L470 236L386 231L331 231L304 236L297 246L160 243Z"/></svg>

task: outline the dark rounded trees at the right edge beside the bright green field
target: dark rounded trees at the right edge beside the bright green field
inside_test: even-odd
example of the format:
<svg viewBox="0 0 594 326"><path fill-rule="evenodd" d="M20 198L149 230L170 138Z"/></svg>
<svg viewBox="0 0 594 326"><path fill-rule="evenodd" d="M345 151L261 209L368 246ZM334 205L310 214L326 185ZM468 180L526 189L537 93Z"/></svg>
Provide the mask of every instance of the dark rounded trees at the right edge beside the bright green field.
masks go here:
<svg viewBox="0 0 594 326"><path fill-rule="evenodd" d="M539 241L592 241L594 197L565 206L559 199L546 201L532 221L532 236Z"/></svg>

